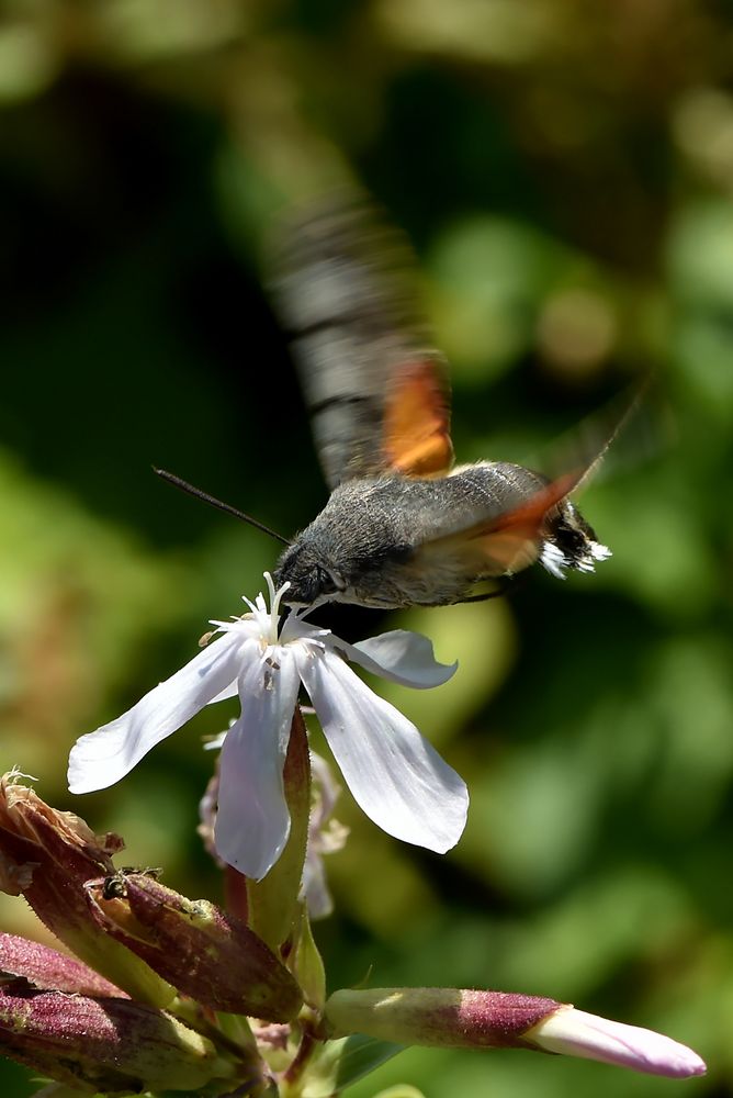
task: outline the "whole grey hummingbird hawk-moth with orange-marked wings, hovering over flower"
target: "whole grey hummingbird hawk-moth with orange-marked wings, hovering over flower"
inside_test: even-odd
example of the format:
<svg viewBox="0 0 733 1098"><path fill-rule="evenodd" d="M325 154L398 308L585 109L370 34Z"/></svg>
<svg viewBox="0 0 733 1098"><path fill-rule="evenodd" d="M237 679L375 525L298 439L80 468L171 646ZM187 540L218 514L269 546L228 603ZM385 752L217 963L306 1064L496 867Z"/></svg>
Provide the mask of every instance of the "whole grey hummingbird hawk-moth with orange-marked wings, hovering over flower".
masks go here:
<svg viewBox="0 0 733 1098"><path fill-rule="evenodd" d="M442 606L535 560L562 576L610 556L570 500L595 461L553 480L505 461L453 466L447 363L409 266L360 201L308 214L281 244L273 300L331 490L278 562L292 605Z"/></svg>

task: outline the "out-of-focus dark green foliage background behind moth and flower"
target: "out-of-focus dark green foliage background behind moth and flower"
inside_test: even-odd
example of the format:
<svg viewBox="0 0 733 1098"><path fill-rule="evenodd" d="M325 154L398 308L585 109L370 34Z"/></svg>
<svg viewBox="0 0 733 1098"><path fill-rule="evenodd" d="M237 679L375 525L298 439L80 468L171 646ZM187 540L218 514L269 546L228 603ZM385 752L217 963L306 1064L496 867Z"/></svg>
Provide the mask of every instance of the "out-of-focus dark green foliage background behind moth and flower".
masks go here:
<svg viewBox="0 0 733 1098"><path fill-rule="evenodd" d="M195 834L210 710L72 799L75 738L237 613L326 493L261 288L271 217L347 178L411 238L462 460L528 458L650 374L583 509L614 556L508 601L382 617L455 679L382 687L466 777L446 858L345 795L331 987L551 995L662 1030L706 1079L411 1050L428 1098L722 1096L733 1077L733 5L695 0L5 0L0 21L4 768L219 895ZM630 433L633 436L633 430ZM21 901L2 927L42 937ZM4 1093L34 1089L3 1063Z"/></svg>

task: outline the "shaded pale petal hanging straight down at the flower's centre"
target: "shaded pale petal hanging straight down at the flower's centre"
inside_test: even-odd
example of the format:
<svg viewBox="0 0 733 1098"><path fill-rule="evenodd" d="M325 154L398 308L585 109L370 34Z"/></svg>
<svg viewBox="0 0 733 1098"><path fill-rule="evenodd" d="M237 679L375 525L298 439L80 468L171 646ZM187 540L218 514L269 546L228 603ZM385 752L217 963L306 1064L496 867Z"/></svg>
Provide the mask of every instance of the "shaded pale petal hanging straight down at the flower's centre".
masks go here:
<svg viewBox="0 0 733 1098"><path fill-rule="evenodd" d="M241 716L226 733L219 765L214 843L221 858L259 881L282 853L290 813L282 770L297 698L295 661L277 649L246 669L239 683Z"/></svg>

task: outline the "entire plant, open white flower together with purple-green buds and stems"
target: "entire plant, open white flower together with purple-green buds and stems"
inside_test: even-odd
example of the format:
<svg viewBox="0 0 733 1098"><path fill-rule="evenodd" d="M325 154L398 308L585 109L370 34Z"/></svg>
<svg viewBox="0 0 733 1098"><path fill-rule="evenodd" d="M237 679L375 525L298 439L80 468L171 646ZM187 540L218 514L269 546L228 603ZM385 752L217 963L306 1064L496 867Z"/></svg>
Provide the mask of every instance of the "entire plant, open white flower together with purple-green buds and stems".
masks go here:
<svg viewBox="0 0 733 1098"><path fill-rule="evenodd" d="M243 617L213 623L202 652L82 736L69 763L72 792L104 788L204 706L238 696L202 802L226 910L182 896L158 871L117 867L117 836L46 805L18 773L0 781L0 890L23 895L75 954L0 934L0 1049L55 1080L45 1098L336 1095L414 1044L561 1053L673 1078L704 1072L666 1037L546 997L407 987L327 996L308 916L328 910L320 858L346 831L331 819L328 766L308 750L300 685L366 815L446 851L465 824L464 783L347 660L416 687L455 666L413 634L349 645L304 613L281 617L282 590L267 579L270 609L259 595Z"/></svg>

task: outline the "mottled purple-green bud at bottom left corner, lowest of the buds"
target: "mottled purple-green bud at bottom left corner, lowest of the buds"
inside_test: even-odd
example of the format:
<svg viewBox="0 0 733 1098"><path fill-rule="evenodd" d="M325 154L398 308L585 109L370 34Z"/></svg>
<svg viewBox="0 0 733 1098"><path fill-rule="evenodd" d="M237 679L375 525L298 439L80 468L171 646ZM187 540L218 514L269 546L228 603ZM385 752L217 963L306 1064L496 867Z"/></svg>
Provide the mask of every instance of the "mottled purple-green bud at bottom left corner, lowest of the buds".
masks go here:
<svg viewBox="0 0 733 1098"><path fill-rule="evenodd" d="M206 1038L129 999L0 985L0 1051L58 1083L92 1094L184 1090L234 1077Z"/></svg>

